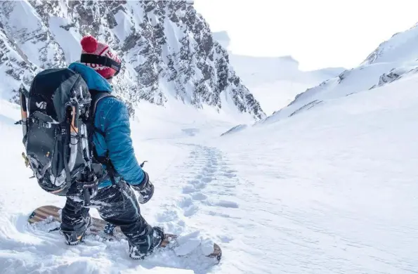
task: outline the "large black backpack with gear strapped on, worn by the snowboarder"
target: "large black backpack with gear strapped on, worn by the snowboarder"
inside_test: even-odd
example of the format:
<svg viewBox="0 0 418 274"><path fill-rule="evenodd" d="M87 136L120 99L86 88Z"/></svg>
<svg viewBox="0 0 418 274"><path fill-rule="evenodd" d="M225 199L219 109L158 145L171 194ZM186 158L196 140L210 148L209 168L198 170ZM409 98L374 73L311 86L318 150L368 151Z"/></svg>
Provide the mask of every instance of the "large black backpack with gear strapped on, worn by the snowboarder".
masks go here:
<svg viewBox="0 0 418 274"><path fill-rule="evenodd" d="M81 75L67 68L44 70L34 77L29 92L22 86L20 91L23 156L34 178L48 193L60 196L78 183L88 190L84 199L89 202L91 187L105 176L103 161L93 157L94 112L98 100L110 94L98 93L92 100Z"/></svg>

